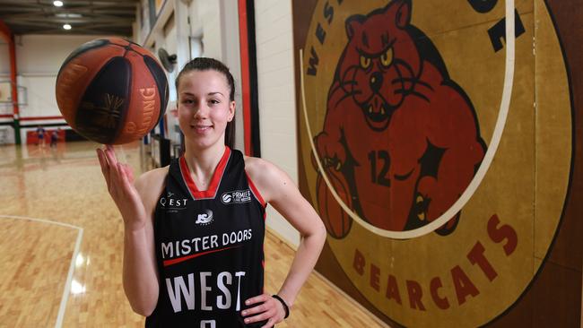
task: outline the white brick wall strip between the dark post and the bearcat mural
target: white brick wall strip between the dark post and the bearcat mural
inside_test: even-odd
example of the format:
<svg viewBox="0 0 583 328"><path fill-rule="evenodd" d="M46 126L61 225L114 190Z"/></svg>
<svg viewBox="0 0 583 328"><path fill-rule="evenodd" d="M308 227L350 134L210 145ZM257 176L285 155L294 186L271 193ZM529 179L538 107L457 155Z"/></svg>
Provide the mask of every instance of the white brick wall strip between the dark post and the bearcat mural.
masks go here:
<svg viewBox="0 0 583 328"><path fill-rule="evenodd" d="M291 0L255 2L261 156L298 182ZM267 225L292 245L300 236L271 207Z"/></svg>

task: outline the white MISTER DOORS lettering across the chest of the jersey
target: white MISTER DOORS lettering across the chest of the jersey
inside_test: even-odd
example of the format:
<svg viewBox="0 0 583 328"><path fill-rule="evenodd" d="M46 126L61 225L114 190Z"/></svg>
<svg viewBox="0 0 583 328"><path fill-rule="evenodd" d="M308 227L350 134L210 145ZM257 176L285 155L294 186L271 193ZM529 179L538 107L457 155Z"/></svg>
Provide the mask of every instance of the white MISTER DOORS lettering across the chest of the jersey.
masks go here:
<svg viewBox="0 0 583 328"><path fill-rule="evenodd" d="M252 237L252 229L225 232L222 235L209 235L161 243L162 258L169 259L196 254L223 246L237 244Z"/></svg>

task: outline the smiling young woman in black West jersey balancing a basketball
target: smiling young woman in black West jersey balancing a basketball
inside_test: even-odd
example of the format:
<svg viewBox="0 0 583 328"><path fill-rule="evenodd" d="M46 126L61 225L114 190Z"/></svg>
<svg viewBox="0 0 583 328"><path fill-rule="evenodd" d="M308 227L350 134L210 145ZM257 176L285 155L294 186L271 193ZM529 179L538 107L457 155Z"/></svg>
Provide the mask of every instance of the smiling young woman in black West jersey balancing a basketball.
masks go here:
<svg viewBox="0 0 583 328"><path fill-rule="evenodd" d="M326 229L281 169L231 149L235 87L225 65L196 58L176 86L180 159L134 182L112 147L97 150L125 223L126 296L146 327L272 327L289 315ZM263 290L267 203L301 235L273 296Z"/></svg>

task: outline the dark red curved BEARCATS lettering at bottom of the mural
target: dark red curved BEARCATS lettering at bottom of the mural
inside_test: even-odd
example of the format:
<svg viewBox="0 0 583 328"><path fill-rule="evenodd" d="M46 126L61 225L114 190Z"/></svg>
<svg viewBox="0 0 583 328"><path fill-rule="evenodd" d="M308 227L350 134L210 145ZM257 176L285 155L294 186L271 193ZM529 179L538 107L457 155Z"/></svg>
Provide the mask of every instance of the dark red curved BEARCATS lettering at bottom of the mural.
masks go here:
<svg viewBox="0 0 583 328"><path fill-rule="evenodd" d="M516 230L513 229L509 224L503 224L500 226L500 228L498 228L499 224L500 220L498 219L498 216L496 214L492 215L492 218L488 220L488 236L496 244L503 243L502 248L504 250L504 254L509 256L516 250L518 246L518 235ZM478 265L488 281L493 281L498 276L498 272L496 272L496 270L492 267L492 263L488 261L488 258L486 258L484 255L484 251L485 248L483 244L478 240L475 242L472 249L467 253L466 258L472 265ZM367 265L369 265L370 268L367 268ZM354 271L356 271L361 276L363 276L368 269L369 272L366 273L368 274L370 287L379 292L384 292L385 297L388 300L395 301L398 305L403 305L401 298L402 291L397 285L396 277L389 273L386 278L387 289L381 291L381 272L379 266L375 265L374 263L367 263L366 258L364 255L362 255L358 248L356 248L354 251L352 269L354 269ZM476 297L478 294L480 294L480 290L474 285L474 282L472 282L470 277L466 274L461 266L454 266L450 269L450 273L453 286L455 287L457 305L461 306L464 304L467 300L467 297L469 296ZM445 310L450 306L448 297L451 298L454 296L449 295L452 293L448 293L448 289L442 289L443 284L439 276L431 278L429 286L427 283L421 284L418 281L413 280L406 280L405 285L406 295L409 299L409 306L412 309L425 311L424 302L427 302L428 298L431 298L436 306L442 310ZM424 286L425 289L423 289L422 286ZM427 296L427 289L429 289L430 297Z"/></svg>

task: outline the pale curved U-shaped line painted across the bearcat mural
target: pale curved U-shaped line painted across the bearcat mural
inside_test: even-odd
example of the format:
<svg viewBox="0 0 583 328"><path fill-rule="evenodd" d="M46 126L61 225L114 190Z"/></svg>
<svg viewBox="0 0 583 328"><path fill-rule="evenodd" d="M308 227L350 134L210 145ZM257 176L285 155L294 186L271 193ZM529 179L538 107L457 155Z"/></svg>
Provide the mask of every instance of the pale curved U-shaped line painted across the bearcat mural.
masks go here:
<svg viewBox="0 0 583 328"><path fill-rule="evenodd" d="M505 18L505 25L506 25L506 63L505 63L505 72L504 72L504 85L502 90L502 98L500 100L500 111L498 114L498 118L496 120L496 125L494 127L494 132L492 133L492 139L490 141L490 145L488 146L488 150L486 151L485 155L483 156L482 164L480 168L476 171L474 178L470 182L470 184L466 187L466 190L463 194L459 196L456 203L453 203L448 211L445 211L439 218L431 221L425 226L422 226L417 229L411 229L406 231L392 231L386 229L379 229L371 225L369 222L362 220L361 217L352 211L340 198L338 194L336 194L334 186L330 183L326 171L324 170L322 163L318 157L318 151L316 151L316 146L314 145L314 137L312 136L312 132L309 126L309 119L308 119L308 109L306 107L306 94L305 94L305 87L304 87L304 73L303 73L303 49L300 49L300 88L301 88L301 101L302 101L302 109L303 115L306 122L306 130L308 130L309 136L309 145L311 146L311 150L314 153L314 158L316 159L316 163L318 164L318 170L322 177L324 178L324 182L326 186L330 190L330 193L334 196L336 202L342 207L342 209L356 222L358 222L364 229L369 230L370 232L377 234L381 237L389 237L394 239L410 239L414 237L422 237L423 235L427 235L434 230L438 229L442 225L451 220L458 211L461 211L462 208L466 205L466 203L472 198L475 191L478 187L482 184L483 178L486 176L490 165L492 164L492 160L494 159L494 155L498 150L498 146L500 144L500 139L502 137L502 133L504 132L504 126L506 125L506 119L508 117L509 107L510 107L510 99L512 96L512 85L514 84L514 63L515 63L515 29L514 29L514 0L506 0L506 18Z"/></svg>

